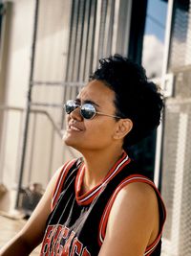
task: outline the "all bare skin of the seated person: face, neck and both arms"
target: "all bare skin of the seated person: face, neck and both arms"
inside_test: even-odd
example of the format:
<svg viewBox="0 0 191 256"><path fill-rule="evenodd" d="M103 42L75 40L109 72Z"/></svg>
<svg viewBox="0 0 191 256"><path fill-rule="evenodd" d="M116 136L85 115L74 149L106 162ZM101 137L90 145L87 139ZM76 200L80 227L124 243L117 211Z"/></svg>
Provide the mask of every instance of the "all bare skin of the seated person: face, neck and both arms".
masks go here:
<svg viewBox="0 0 191 256"><path fill-rule="evenodd" d="M77 101L96 103L96 110L115 114L115 92L102 81L89 82L77 96ZM85 193L100 183L121 156L124 136L133 128L130 119L96 115L84 120L79 108L67 118L68 128L64 142L79 151L84 158L85 175L82 192ZM51 198L57 176L50 184L19 234L0 250L2 256L29 255L41 243L46 220L51 212ZM132 183L117 194L112 206L106 236L99 256L140 256L152 244L159 233L158 199L153 188L144 183Z"/></svg>

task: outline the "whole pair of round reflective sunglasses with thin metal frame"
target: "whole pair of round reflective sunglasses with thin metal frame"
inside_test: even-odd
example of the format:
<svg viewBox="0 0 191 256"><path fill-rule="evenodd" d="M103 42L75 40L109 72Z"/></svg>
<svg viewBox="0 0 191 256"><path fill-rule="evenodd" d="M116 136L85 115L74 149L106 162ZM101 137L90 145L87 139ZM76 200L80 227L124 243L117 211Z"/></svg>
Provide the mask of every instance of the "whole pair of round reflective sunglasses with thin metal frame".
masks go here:
<svg viewBox="0 0 191 256"><path fill-rule="evenodd" d="M121 117L119 116L115 116L115 115L109 115L109 114L105 114L102 112L98 112L96 111L96 108L94 105L92 104L83 104L83 105L79 105L77 104L74 100L69 100L65 105L65 111L67 114L70 114L71 112L74 111L74 109L76 109L77 107L80 107L80 115L84 118L84 119L93 119L96 114L97 115L103 115L103 116L109 116L109 117L114 117L114 118L118 118L120 119Z"/></svg>

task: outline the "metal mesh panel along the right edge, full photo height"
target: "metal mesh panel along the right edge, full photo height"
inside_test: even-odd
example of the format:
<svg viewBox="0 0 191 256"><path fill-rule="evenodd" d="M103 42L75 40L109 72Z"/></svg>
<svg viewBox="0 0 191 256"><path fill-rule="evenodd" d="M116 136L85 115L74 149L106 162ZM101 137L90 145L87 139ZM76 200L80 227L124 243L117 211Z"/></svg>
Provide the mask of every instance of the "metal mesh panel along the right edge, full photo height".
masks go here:
<svg viewBox="0 0 191 256"><path fill-rule="evenodd" d="M167 206L165 254L191 255L191 1L174 1L168 71L174 91L165 102L162 196Z"/></svg>

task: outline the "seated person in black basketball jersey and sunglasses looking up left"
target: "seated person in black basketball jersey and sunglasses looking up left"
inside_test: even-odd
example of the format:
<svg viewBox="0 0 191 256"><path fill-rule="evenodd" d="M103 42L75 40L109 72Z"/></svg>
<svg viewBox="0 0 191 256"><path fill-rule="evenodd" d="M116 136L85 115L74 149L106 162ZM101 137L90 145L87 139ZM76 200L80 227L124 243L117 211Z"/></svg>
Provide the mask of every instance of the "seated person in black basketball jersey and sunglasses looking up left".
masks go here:
<svg viewBox="0 0 191 256"><path fill-rule="evenodd" d="M144 69L118 55L65 104L66 145L82 157L53 176L31 219L2 256L160 255L165 207L127 148L159 126L162 97Z"/></svg>

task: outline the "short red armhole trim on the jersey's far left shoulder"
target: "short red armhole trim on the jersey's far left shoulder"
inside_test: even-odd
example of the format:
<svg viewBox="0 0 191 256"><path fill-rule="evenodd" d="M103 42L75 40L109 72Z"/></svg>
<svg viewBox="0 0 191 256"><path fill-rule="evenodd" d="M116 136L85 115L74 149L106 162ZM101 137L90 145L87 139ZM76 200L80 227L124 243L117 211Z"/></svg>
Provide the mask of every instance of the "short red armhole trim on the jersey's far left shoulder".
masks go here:
<svg viewBox="0 0 191 256"><path fill-rule="evenodd" d="M76 161L76 159L73 159L71 161L66 162L61 171L60 174L57 178L54 190L53 190L53 197L52 197L52 205L51 205L51 209L53 211L53 208L55 206L55 203L57 202L57 199L59 198L59 195L61 193L62 190L62 186L65 180L66 175L68 174L69 170L71 169L71 167L74 165L74 162Z"/></svg>

